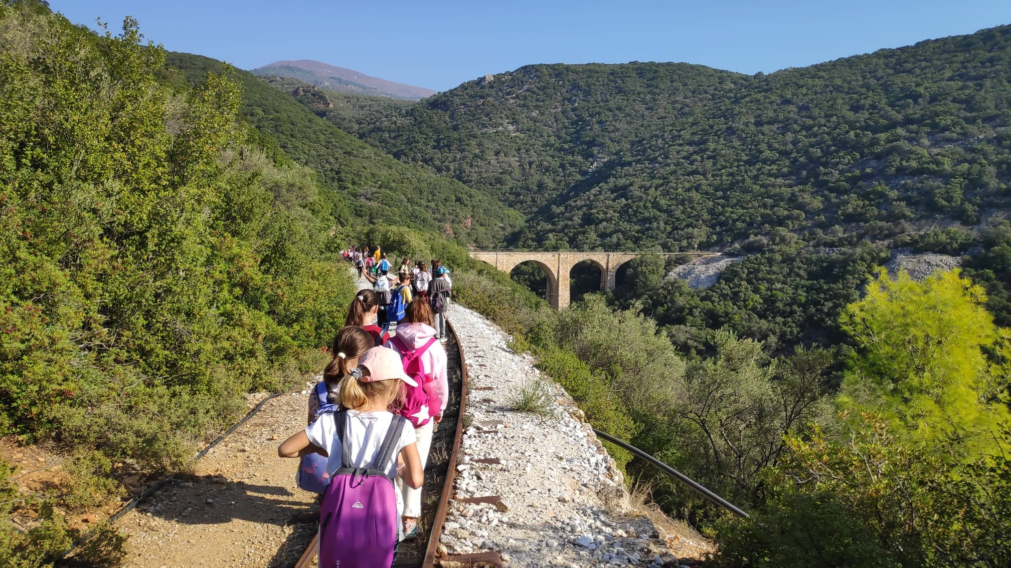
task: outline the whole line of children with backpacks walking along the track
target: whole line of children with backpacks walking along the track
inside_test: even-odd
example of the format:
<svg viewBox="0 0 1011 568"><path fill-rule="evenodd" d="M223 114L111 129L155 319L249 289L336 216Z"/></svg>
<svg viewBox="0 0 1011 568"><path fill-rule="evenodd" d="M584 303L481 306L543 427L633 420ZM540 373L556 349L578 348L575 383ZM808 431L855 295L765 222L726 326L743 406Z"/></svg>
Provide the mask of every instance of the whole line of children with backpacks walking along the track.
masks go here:
<svg viewBox="0 0 1011 568"><path fill-rule="evenodd" d="M319 566L386 568L397 544L417 536L425 464L449 400L449 271L433 261L434 278L422 262L394 273L376 248L373 274L367 252L344 256L374 287L358 292L334 339L309 425L278 448L281 457L325 460Z"/></svg>

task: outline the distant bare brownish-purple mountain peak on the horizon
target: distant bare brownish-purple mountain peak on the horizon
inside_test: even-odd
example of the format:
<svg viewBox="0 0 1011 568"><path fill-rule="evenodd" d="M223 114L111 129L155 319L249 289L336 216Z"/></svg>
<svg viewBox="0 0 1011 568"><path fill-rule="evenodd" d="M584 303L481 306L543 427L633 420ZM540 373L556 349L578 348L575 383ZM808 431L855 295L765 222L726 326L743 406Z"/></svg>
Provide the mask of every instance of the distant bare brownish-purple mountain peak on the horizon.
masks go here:
<svg viewBox="0 0 1011 568"><path fill-rule="evenodd" d="M436 94L432 89L395 83L353 69L313 60L278 61L258 67L251 73L290 77L333 91L380 95L395 99L418 100Z"/></svg>

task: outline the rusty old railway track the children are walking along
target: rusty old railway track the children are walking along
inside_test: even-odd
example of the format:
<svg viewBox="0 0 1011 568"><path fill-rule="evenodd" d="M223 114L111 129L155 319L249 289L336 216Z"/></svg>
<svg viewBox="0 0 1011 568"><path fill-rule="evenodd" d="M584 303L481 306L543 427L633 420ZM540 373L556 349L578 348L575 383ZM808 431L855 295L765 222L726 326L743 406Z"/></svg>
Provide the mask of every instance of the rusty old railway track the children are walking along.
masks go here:
<svg viewBox="0 0 1011 568"><path fill-rule="evenodd" d="M412 541L400 543L393 568L432 568L435 566L442 535L443 523L453 495L453 481L456 462L463 436L464 403L467 399L467 366L463 355L463 345L456 335L453 323L449 322L449 341L446 342L447 367L449 368L450 397L443 420L432 437L432 450L425 467L425 492L422 497L422 516L419 527L425 533ZM312 539L302 553L295 568L316 566L316 545L318 535Z"/></svg>

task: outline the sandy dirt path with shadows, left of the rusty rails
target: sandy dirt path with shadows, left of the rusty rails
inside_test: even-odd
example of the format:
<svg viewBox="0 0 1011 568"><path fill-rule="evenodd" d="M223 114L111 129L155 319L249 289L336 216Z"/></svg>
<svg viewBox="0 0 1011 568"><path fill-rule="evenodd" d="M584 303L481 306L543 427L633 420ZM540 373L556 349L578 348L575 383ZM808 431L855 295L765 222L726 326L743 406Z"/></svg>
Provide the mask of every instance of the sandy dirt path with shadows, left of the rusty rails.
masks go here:
<svg viewBox="0 0 1011 568"><path fill-rule="evenodd" d="M119 519L125 566L288 567L315 532L315 495L295 485L296 460L277 446L305 428L308 396L268 401L196 463Z"/></svg>

